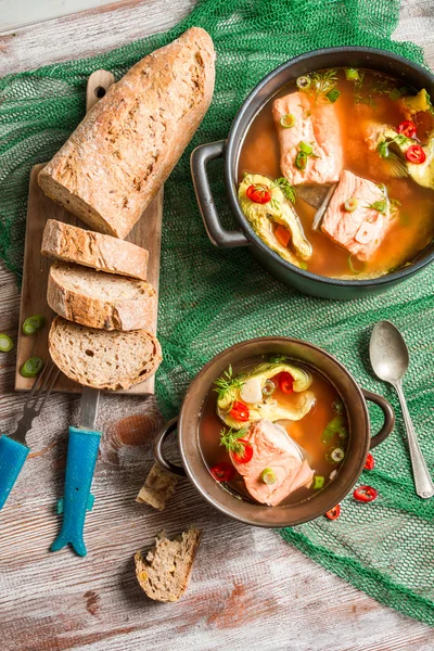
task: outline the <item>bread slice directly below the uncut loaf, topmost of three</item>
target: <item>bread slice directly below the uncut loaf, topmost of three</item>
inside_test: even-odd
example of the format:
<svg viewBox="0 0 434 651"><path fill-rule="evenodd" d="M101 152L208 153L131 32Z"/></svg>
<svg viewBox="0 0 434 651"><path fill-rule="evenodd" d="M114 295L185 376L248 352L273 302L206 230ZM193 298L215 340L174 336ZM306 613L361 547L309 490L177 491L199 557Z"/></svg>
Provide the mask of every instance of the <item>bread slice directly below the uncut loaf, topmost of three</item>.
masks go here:
<svg viewBox="0 0 434 651"><path fill-rule="evenodd" d="M98 271L146 280L145 248L55 219L46 224L41 254Z"/></svg>

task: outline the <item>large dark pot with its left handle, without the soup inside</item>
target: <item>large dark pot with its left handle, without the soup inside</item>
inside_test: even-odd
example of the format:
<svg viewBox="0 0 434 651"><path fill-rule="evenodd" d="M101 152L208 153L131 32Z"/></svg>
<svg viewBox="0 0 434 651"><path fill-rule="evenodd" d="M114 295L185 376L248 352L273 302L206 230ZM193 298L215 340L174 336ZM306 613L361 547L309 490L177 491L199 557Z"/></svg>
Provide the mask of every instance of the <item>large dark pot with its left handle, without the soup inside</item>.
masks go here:
<svg viewBox="0 0 434 651"><path fill-rule="evenodd" d="M203 144L196 148L191 156L192 177L195 187L197 203L202 213L207 234L213 244L224 248L235 246L248 246L252 254L258 260L258 263L263 267L265 267L270 273L272 273L277 279L286 284L293 285L299 292L312 294L315 296L320 296L324 298L354 298L362 294L384 291L391 288L392 285L395 285L404 281L405 279L410 278L414 273L418 273L434 258L434 241L430 244L430 239L427 239L426 244L423 244L422 250L419 248L419 251L413 252L413 259L403 260L404 264L401 265L394 265L391 263L391 265L387 266L387 271L383 272L382 275L379 275L379 277L366 277L363 273L355 275L354 279L347 278L346 276L335 276L333 278L328 277L326 272L324 275L319 273L318 269L316 272L314 272L311 269L309 269L310 265L307 265L307 268L301 268L291 264L291 261L286 261L286 259L283 259L278 253L276 253L267 244L265 244L264 241L256 234L255 230L252 228L251 222L246 219L243 210L241 209L240 202L238 199L238 183L240 181L240 155L242 154L244 143L248 141L250 127L252 126L255 118L258 116L260 110L276 93L279 93L282 87L291 82L295 82L296 79L303 79L303 77L306 78L306 76L308 76L315 71L323 71L324 68L347 68L348 66L350 66L352 68L365 68L367 71L373 71L375 73L386 75L390 78L396 80L396 86L400 86L404 88L407 87L407 91L408 88L411 88L412 93L421 89L426 89L431 97L434 97L433 75L429 71L423 69L419 65L416 65L414 63L411 63L410 61L407 61L406 59L403 59L397 54L369 48L332 48L326 50L317 50L292 59L288 63L284 63L283 65L276 68L272 73L267 75L267 77L265 77L256 86L256 88L251 92L251 94L243 103L240 112L233 120L227 140L220 140L218 142ZM348 93L350 91L348 91ZM337 103L342 101L342 99L343 95L341 97L341 100L337 100ZM370 110L371 112L374 111L375 100L372 101L371 106L369 106L368 104L369 101L370 100L366 100L365 106L361 107L361 110L366 111L367 114ZM341 104L341 106L343 106L343 104ZM342 108L340 108L340 111L342 111ZM348 112L350 111L353 111L353 107L349 107L345 115L347 116ZM380 119L382 119L383 122L390 119L394 122L396 127L397 122L399 122L400 119L404 120L405 117L399 117L396 107L392 107L391 112L393 113L394 111L394 115L384 114L383 112L383 115L382 117L380 117ZM269 112L271 116L270 105ZM306 113L310 114L311 112L305 112L305 114ZM353 125L358 124L358 122L360 120L359 116L360 113L354 113L354 116L352 118ZM285 115L284 117L288 117L288 115ZM289 114L289 117L292 119L294 116ZM372 114L372 116L369 115L368 117L372 117L373 120L376 119L374 113ZM347 117L345 119L347 119ZM269 123L271 117L269 117ZM282 125L282 123L280 124ZM291 125L286 124L285 126ZM288 129L288 131L290 131L290 129ZM277 138L276 135L272 137ZM350 143L344 141L343 146L344 151L347 151L348 148L354 148L355 144L354 142ZM306 149L306 151L308 151L309 149L311 150L311 146L308 143L307 148L308 149ZM270 148L268 148L267 151L269 150ZM255 161L257 161L258 157L261 157L260 151L260 149L257 150ZM305 156L306 161L306 156L308 156L309 153L302 153L301 155ZM276 156L278 156L278 154L276 154ZM227 200L237 219L237 230L227 230L222 226L210 190L207 174L207 164L212 159L219 157L224 157L225 162L225 182L227 190ZM360 156L360 159L362 158L363 154ZM253 158L251 157L250 161ZM297 165L296 162L295 165ZM360 165L361 163L359 162L359 166ZM251 169L250 171L252 174L256 174L256 170L254 169ZM365 176L363 171L365 169L360 168L360 176ZM277 176L279 175L279 173L281 173L281 170L278 170L278 168L276 168L276 173L272 176ZM280 176L282 175L280 174ZM367 176L370 176L368 171ZM374 179L373 176L372 179L376 182L376 179ZM296 183L294 184L296 186ZM422 188L421 191L422 193L425 193L424 195L422 195L421 201L432 201L430 196L426 195L426 193L432 192L431 190ZM253 199L252 201L256 200ZM409 219L413 219L414 210L412 210L412 215L409 215ZM321 237L326 235L321 233ZM398 239L405 240L406 237L405 234L399 234L396 237L396 240ZM331 246L331 244L329 244L329 246ZM324 257L329 257L329 260L331 257L333 257L333 254L330 255L330 251L328 252L328 254L327 252L323 253ZM314 253L314 255L316 254ZM386 253L385 255L387 257L388 254ZM387 260L384 260L384 263ZM302 265L302 267L305 266L306 265ZM312 267L315 267L315 265L312 265ZM354 270L352 269L352 271Z"/></svg>

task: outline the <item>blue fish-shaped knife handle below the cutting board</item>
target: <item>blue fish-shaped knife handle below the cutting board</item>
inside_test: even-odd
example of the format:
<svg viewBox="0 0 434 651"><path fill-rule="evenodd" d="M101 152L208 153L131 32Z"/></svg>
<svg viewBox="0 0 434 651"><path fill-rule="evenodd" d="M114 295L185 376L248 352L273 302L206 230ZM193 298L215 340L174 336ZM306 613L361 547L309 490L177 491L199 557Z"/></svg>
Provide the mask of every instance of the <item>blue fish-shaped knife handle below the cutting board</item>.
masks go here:
<svg viewBox="0 0 434 651"><path fill-rule="evenodd" d="M69 542L79 556L87 554L84 540L85 518L86 511L93 505L90 486L100 438L101 432L69 427L65 495L62 500L63 524L51 551L58 551Z"/></svg>

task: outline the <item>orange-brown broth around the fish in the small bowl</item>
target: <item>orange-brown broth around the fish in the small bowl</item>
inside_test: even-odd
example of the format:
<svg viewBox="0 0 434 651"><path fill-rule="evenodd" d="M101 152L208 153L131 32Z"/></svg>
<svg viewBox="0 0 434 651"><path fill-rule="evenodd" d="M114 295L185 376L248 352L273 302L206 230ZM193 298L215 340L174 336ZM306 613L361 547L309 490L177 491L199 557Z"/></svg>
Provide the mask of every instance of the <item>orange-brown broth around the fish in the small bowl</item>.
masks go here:
<svg viewBox="0 0 434 651"><path fill-rule="evenodd" d="M254 369L259 363L264 363L266 360L267 356L252 358L248 361L234 367L234 375L241 371L245 372L250 369ZM299 363L298 361L293 361L292 363L301 368L306 368L306 370L311 374L312 383L308 391L315 394L316 404L309 413L307 413L299 421L282 420L277 422L278 424L284 426L291 438L305 452L305 458L308 460L310 468L315 471L315 475L324 477L326 487L330 481L333 480L333 477L330 480L330 474L333 473L333 471L339 470L340 465L345 462L345 459L341 463L330 462L327 460L326 455L329 450L336 446L342 447L345 450L346 438L342 438L336 432L328 439L327 443L323 443L323 433L328 423L330 423L330 421L336 417L336 404L339 404L339 406L342 408L342 417L346 431L348 431L347 417L341 401L341 396L329 380L327 380L318 371L312 370L310 367L304 367L304 365ZM272 394L272 398L277 399L278 403L284 406L285 404L291 405L291 403L294 403L299 395L301 394L297 393L284 394L280 391L280 388L276 388L275 393ZM216 413L216 405L217 394L212 390L202 408L199 429L201 452L208 470L218 463L231 463L229 454L226 451L226 448L220 445L220 432L225 427L228 430L228 427L218 418ZM241 496L243 499L255 501L247 493L244 486L243 477L238 472L235 473L233 480L225 483L224 485L230 492ZM298 488L283 499L279 506L298 502L309 498L316 493L318 493L318 490L315 490L311 487Z"/></svg>

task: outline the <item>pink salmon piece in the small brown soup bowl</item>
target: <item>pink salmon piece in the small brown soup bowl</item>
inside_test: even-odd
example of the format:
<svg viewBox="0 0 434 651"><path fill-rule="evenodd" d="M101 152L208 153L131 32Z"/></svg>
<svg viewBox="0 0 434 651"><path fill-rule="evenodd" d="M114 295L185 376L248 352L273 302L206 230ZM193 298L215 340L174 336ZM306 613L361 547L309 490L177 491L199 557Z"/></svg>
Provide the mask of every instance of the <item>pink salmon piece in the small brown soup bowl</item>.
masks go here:
<svg viewBox="0 0 434 651"><path fill-rule="evenodd" d="M257 421L243 438L253 447L251 461L238 463L232 455L231 460L256 501L276 507L297 488L311 484L314 471L281 425L267 420ZM266 468L275 472L275 484L267 485L260 478Z"/></svg>

